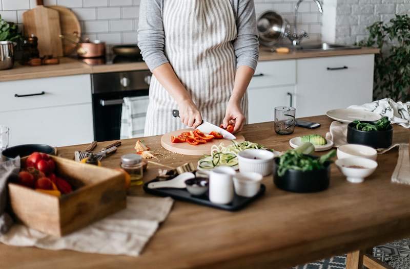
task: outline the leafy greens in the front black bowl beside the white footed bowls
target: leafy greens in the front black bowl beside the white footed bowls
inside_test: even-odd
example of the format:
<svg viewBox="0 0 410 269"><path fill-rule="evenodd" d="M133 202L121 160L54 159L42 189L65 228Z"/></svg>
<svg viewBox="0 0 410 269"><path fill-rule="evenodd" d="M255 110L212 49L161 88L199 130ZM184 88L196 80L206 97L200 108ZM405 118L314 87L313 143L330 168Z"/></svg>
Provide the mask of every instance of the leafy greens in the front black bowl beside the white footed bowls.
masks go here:
<svg viewBox="0 0 410 269"><path fill-rule="evenodd" d="M336 156L336 150L334 149L320 156L320 158L313 158L312 156L304 155L302 151L306 148L306 146L304 146L305 144L296 149L290 149L279 157L279 176L283 176L289 169L299 171L312 171L323 169L325 167L324 163L326 161L330 161L331 158Z"/></svg>

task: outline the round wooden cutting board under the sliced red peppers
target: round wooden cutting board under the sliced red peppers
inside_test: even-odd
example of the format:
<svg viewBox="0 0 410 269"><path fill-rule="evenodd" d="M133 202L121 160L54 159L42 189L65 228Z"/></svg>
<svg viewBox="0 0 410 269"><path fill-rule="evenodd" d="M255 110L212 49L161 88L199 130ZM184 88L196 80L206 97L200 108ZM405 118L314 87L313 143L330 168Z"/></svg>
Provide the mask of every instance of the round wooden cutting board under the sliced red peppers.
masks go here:
<svg viewBox="0 0 410 269"><path fill-rule="evenodd" d="M210 154L212 145L219 145L223 143L226 146L229 146L232 142L231 140L225 139L213 139L212 141L206 144L199 145L190 145L188 143L172 143L171 136L179 136L181 132L192 131L192 129L181 129L172 132L168 132L161 137L161 146L169 151L183 154L183 155L193 155L193 156L202 156L203 154ZM235 134L236 142L243 142L245 138L242 135Z"/></svg>

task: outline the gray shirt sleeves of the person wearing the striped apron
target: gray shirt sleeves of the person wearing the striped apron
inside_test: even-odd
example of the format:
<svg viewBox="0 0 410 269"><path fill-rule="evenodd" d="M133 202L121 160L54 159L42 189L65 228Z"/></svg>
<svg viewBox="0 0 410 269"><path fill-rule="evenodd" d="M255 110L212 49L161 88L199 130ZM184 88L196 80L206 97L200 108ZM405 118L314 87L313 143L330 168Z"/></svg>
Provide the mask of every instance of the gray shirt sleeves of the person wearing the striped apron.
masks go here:
<svg viewBox="0 0 410 269"><path fill-rule="evenodd" d="M164 1L166 0L141 0L139 6L138 47L151 71L169 62L164 53L165 32L162 23ZM237 66L247 65L255 70L259 58L259 42L254 1L229 1L236 18L237 37L233 41L233 46Z"/></svg>

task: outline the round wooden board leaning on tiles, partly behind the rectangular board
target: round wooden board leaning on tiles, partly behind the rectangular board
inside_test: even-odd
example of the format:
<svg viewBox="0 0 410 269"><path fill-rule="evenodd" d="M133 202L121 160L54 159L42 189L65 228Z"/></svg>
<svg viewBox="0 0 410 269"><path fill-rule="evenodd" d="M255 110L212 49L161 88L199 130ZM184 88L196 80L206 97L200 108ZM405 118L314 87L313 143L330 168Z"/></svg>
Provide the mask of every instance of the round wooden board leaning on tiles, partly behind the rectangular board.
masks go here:
<svg viewBox="0 0 410 269"><path fill-rule="evenodd" d="M63 6L48 6L48 8L58 11L60 16L61 34L78 42L81 36L81 25L74 12ZM76 47L76 44L63 41L64 55L70 55Z"/></svg>

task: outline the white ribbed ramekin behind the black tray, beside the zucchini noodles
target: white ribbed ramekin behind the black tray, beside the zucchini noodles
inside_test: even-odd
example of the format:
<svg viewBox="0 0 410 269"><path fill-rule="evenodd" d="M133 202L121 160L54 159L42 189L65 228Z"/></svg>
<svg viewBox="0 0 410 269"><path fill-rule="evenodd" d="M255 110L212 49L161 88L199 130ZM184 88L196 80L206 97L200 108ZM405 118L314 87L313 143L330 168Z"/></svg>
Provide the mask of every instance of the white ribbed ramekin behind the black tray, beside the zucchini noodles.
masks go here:
<svg viewBox="0 0 410 269"><path fill-rule="evenodd" d="M239 171L255 172L262 176L272 173L275 154L265 149L245 149L238 153Z"/></svg>

